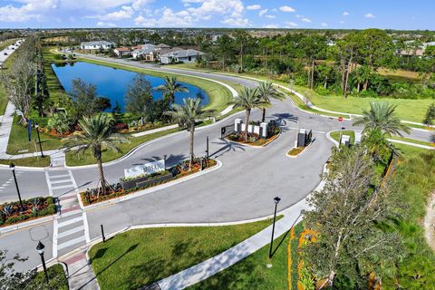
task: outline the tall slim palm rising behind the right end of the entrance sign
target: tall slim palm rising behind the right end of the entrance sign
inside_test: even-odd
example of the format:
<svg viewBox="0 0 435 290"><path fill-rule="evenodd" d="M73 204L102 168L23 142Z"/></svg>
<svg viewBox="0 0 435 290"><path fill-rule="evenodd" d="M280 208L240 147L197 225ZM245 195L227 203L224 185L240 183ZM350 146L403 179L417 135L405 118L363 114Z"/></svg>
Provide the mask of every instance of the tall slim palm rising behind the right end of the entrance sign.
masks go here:
<svg viewBox="0 0 435 290"><path fill-rule="evenodd" d="M194 141L195 141L195 123L198 120L210 117L213 114L212 110L204 111L202 109L202 100L196 99L183 99L183 105L174 104L173 111L168 113L172 117L179 121L179 123L186 124L190 131L190 141L189 141L189 169L192 168L194 153Z"/></svg>

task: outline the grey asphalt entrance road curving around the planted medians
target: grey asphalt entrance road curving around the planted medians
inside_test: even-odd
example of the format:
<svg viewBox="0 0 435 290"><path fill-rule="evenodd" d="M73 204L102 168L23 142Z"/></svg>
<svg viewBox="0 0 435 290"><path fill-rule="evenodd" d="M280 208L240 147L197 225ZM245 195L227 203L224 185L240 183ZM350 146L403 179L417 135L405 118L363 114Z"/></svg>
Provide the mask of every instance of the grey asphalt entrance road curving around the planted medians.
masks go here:
<svg viewBox="0 0 435 290"><path fill-rule="evenodd" d="M114 60L114 62L125 61ZM139 63L132 64L142 66ZM253 81L217 73L153 69L226 80L249 87L257 85ZM210 155L222 161L221 169L140 198L132 198L115 205L87 211L89 237L92 239L101 235L101 224L104 224L106 233L111 233L124 227L140 224L225 222L260 218L272 213L275 196L282 198L279 209L289 208L306 197L319 183L324 162L330 156L333 146L326 139L325 133L338 130L339 123L333 118L299 111L295 109L290 100L275 102L266 113L268 120L278 121L282 128L282 134L266 148L256 149L220 140L220 127L233 124L234 119L239 116L243 118L243 112L232 116L227 121L199 128L195 139L196 155L204 155L208 136ZM251 120L260 118L260 111L253 111ZM353 128L350 121L344 121L343 127ZM291 159L286 157L285 153L295 143L296 128L313 130L315 140L304 154L297 159ZM146 163L149 160L164 158L169 165L174 164L188 156L188 146L189 132L187 131L152 141L136 150L128 158L105 165L106 178L111 182L118 181L123 176L123 169ZM53 184L48 185L47 183L47 175L55 173L56 169L19 169L17 171L24 198L47 195L49 186L53 188ZM9 170L0 169L0 185L6 184L10 176ZM79 189L90 188L98 181L94 167L71 169L71 176ZM7 183L5 187L8 193L1 192L2 199L16 199L12 183ZM69 191L72 189L56 189L53 190L53 195L62 196ZM44 237L43 240L47 247L46 258L50 258L54 235L53 222L47 223L43 231L48 234L48 237ZM23 266L32 267L39 264L39 257L34 252L35 242L31 239L31 236L35 235L30 235L29 229L19 230L0 236L0 243L2 248L8 248L11 252L16 249L21 255L29 256L29 260ZM16 247L17 245L19 246ZM58 255L65 254L72 249L73 247L65 247L63 251L58 252Z"/></svg>

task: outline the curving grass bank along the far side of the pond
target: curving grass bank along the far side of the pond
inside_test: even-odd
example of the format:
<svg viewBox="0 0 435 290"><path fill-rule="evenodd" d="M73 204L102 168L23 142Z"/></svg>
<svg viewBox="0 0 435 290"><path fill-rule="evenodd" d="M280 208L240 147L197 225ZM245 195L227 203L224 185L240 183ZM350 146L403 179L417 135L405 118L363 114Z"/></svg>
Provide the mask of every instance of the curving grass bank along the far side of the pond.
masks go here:
<svg viewBox="0 0 435 290"><path fill-rule="evenodd" d="M174 75L177 77L177 80L179 82L190 83L192 85L197 86L198 88L202 89L204 92L207 93L209 102L204 108L206 110L214 110L216 112L223 111L227 108L228 102L231 102L233 100L233 96L231 92L229 92L229 90L226 87L222 86L221 84L218 84L217 82L211 82L208 80L199 79L194 76L184 76L184 75L179 75L177 73L162 73L162 72L156 72L153 70L138 68L126 64L95 61L95 60L90 60L85 58L79 58L77 59L77 61L109 66L112 68L126 70L134 73L146 73L160 78L164 78L168 75Z"/></svg>

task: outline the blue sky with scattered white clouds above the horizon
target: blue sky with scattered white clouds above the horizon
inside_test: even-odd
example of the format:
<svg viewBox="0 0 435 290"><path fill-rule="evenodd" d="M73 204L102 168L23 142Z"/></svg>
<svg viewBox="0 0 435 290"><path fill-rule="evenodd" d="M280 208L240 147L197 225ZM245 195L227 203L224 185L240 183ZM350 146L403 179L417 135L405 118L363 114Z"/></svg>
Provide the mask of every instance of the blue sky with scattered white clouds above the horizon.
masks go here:
<svg viewBox="0 0 435 290"><path fill-rule="evenodd" d="M0 28L435 30L433 0L0 0Z"/></svg>

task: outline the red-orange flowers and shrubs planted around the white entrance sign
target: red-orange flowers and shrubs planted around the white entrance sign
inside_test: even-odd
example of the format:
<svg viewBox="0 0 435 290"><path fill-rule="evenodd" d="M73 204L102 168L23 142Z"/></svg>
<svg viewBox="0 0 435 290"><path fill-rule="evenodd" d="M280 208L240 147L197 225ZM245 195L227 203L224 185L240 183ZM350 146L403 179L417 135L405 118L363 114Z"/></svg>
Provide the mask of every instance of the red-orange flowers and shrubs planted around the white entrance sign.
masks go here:
<svg viewBox="0 0 435 290"><path fill-rule="evenodd" d="M204 167L203 169L208 169L216 166L218 162L216 160L208 160L206 162L204 160ZM113 189L110 190L111 192L105 195L98 195L97 189L90 189L87 191L82 191L80 193L80 197L82 198L82 203L84 206L89 206L98 202L102 202L104 200L112 199L112 198L119 198L125 195L128 195L130 193L140 191L143 189L149 189L155 186L158 186L160 184L167 183L169 181L175 180L175 179L181 179L183 177L189 176L191 174L197 173L201 170L201 164L199 160L195 160L195 163L192 165L192 169L189 170L189 161L182 161L179 164L171 167L168 170L161 171L157 174L152 174L150 176L143 176L138 177L136 179L121 179L121 182L118 184L115 184L111 186ZM142 180L143 179L143 180ZM138 182L139 180L139 182ZM137 185L134 187L131 187L131 184L133 182ZM122 189L121 183L126 183L126 189ZM130 182L130 183L129 183ZM129 184L127 184L129 183Z"/></svg>

